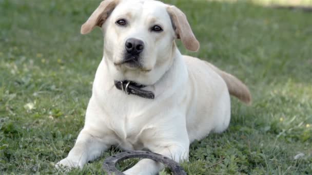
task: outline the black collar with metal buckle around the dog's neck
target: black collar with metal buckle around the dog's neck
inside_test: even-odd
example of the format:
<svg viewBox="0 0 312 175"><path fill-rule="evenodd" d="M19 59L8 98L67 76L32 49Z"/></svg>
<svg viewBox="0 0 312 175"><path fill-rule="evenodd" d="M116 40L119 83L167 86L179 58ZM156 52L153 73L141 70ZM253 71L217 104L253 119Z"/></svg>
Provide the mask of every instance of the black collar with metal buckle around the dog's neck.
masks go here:
<svg viewBox="0 0 312 175"><path fill-rule="evenodd" d="M133 94L133 95L137 95L139 97L147 98L147 99L155 98L155 95L153 92L141 90L142 88L146 87L145 85L131 82L128 80L114 81L114 84L117 89L124 91L128 95Z"/></svg>

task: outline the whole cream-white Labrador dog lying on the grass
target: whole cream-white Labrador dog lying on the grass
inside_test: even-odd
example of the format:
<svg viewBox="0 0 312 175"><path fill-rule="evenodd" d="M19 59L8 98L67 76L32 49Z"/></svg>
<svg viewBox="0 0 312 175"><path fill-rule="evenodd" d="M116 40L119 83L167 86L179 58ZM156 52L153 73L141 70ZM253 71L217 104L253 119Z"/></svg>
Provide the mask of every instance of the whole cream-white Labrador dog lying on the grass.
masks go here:
<svg viewBox="0 0 312 175"><path fill-rule="evenodd" d="M188 160L191 142L228 127L229 94L251 101L236 77L179 52L175 39L190 51L200 45L177 7L153 0L106 0L81 33L96 26L104 33L104 56L85 126L57 167L82 168L111 145ZM124 173L155 174L162 168L143 159Z"/></svg>

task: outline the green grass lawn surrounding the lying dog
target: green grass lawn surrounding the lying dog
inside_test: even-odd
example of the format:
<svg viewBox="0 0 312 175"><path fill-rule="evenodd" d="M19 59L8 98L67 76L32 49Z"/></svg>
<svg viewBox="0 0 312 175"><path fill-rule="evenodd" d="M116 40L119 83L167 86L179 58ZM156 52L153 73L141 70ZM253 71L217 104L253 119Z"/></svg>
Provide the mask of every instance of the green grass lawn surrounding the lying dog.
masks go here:
<svg viewBox="0 0 312 175"><path fill-rule="evenodd" d="M64 173L54 163L83 127L102 59L100 29L80 34L99 2L0 0L0 174ZM179 42L181 52L236 75L253 95L251 106L232 98L226 132L191 144L188 174L312 174L312 13L166 2L187 14L201 42L198 53ZM103 173L116 151L70 174Z"/></svg>

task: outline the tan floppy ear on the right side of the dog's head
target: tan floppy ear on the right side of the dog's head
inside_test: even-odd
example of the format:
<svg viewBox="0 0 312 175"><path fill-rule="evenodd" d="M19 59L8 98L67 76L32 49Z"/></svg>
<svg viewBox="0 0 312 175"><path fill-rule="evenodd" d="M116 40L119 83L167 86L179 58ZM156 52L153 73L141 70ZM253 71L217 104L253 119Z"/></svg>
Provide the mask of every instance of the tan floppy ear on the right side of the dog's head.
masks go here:
<svg viewBox="0 0 312 175"><path fill-rule="evenodd" d="M198 51L200 44L192 32L185 14L175 6L167 7L167 11L178 39L181 39L186 49L193 52Z"/></svg>

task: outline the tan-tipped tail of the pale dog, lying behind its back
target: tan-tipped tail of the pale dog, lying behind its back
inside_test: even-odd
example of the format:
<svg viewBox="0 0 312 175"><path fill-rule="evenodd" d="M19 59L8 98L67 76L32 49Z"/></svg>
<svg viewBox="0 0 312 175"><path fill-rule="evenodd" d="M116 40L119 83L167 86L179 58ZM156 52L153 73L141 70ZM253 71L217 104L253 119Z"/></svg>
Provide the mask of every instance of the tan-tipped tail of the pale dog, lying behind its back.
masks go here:
<svg viewBox="0 0 312 175"><path fill-rule="evenodd" d="M206 62L206 61L205 61ZM216 71L225 81L228 91L230 95L233 95L243 101L244 103L250 105L251 104L251 94L248 89L248 87L238 78L235 76L228 74L224 71L221 71L214 65L210 64L209 62L206 62L212 70Z"/></svg>

